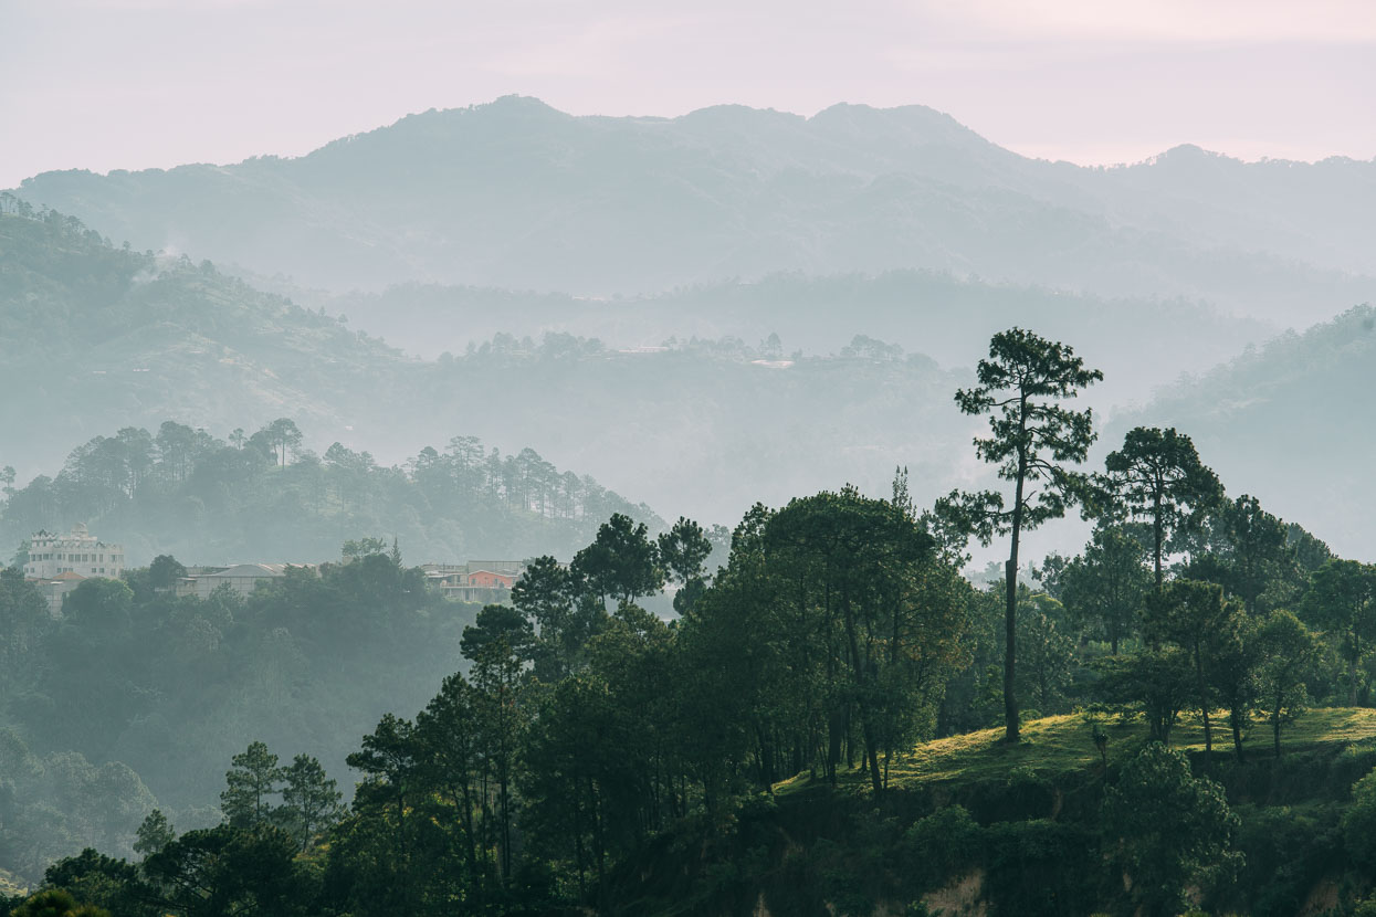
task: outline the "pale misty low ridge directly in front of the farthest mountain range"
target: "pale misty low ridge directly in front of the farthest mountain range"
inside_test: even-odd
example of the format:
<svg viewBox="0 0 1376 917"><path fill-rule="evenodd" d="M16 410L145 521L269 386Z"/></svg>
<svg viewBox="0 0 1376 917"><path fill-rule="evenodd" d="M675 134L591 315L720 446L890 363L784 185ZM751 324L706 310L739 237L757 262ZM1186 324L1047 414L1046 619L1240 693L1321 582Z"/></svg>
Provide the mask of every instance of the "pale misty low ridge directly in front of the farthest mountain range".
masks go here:
<svg viewBox="0 0 1376 917"><path fill-rule="evenodd" d="M1072 342L1094 366L1108 370L1104 384L1087 393L1101 410L1142 403L1154 386L1232 359L1244 342L1270 335L1260 322L1225 316L1200 302L1104 298L930 271L779 274L754 283L611 300L402 285L312 301L348 316L352 327L425 357L464 353L499 333L537 340L550 331L597 337L615 348L724 337L762 346L776 335L775 349L782 355L832 353L863 334L962 368L985 355L989 335L1026 324Z"/></svg>

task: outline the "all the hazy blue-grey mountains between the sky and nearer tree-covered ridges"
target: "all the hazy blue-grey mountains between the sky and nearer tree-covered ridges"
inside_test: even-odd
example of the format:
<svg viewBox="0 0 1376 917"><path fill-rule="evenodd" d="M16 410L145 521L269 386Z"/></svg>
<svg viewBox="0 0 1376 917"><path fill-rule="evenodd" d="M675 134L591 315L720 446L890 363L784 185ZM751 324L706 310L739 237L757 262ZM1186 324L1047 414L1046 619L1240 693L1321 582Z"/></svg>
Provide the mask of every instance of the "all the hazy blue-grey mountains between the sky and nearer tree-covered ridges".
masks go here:
<svg viewBox="0 0 1376 917"><path fill-rule="evenodd" d="M1192 147L1083 169L916 106L520 98L296 159L44 173L37 206L0 197L0 422L25 432L0 466L290 415L384 463L530 445L666 518L883 492L897 465L929 500L981 480L951 396L1021 324L1105 371L1104 450L1178 426L1230 491L1364 555L1373 173Z"/></svg>

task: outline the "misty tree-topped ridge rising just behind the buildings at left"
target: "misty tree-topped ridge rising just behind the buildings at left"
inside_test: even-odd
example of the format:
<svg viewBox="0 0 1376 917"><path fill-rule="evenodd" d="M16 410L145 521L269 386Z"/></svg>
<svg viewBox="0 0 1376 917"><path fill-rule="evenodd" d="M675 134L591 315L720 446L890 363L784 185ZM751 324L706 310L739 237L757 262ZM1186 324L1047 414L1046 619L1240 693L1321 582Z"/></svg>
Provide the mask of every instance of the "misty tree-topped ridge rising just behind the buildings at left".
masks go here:
<svg viewBox="0 0 1376 917"><path fill-rule="evenodd" d="M351 535L387 532L413 557L453 561L567 557L612 513L662 525L528 448L502 455L457 436L387 467L340 443L316 455L303 441L288 418L227 439L173 421L157 433L124 428L73 450L54 477L15 488L6 472L0 531L18 543L80 521L132 557L198 562L315 561Z"/></svg>

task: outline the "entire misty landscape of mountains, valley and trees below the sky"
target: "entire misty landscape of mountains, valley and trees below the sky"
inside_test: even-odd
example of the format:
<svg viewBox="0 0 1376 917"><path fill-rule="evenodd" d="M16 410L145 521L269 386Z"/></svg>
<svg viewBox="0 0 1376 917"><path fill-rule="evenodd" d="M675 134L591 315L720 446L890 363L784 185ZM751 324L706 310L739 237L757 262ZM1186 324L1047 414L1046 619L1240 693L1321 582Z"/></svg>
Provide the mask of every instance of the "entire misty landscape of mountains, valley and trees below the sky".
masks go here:
<svg viewBox="0 0 1376 917"><path fill-rule="evenodd" d="M407 115L0 192L0 917L1376 914L1376 159Z"/></svg>

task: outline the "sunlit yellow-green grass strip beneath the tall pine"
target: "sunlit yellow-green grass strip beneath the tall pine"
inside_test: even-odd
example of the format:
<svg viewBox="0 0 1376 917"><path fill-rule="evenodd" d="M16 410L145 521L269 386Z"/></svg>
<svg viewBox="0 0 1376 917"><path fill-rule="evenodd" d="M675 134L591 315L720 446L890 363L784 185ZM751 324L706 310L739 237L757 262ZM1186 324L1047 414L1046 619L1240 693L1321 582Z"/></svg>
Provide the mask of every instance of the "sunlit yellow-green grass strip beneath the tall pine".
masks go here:
<svg viewBox="0 0 1376 917"><path fill-rule="evenodd" d="M1006 778L1015 767L1029 769L1043 777L1080 771L1099 763L1099 752L1091 738L1091 720L1084 714L1064 714L1028 720L1022 725L1022 741L1003 744L1003 727L985 729L963 736L951 736L925 742L907 755L896 756L889 764L889 785L916 788L941 782L982 782ZM1146 725L1141 720L1119 722L1098 718L1099 729L1108 736L1109 763L1126 760L1146 744ZM1222 712L1211 718L1214 753L1233 752L1233 734ZM1376 709L1331 707L1311 709L1281 731L1281 749L1298 751L1314 745L1376 740ZM1171 747L1183 751L1204 751L1204 727L1198 716L1182 716L1171 733ZM1252 722L1243 733L1243 749L1251 758L1269 758L1271 730L1265 722ZM863 791L868 777L863 769L843 771L843 786ZM806 774L799 774L775 786L776 793L798 792L815 785Z"/></svg>

